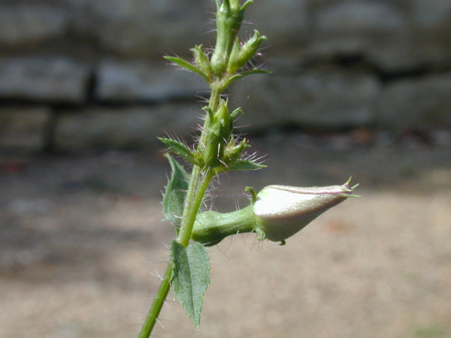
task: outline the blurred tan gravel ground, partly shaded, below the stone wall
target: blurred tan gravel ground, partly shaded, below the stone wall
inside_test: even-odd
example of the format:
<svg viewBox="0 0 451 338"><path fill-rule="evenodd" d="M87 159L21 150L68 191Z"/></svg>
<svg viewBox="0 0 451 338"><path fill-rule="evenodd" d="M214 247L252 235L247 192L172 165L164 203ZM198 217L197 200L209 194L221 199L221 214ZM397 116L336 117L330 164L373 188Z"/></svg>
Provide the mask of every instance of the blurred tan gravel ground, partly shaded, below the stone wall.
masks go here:
<svg viewBox="0 0 451 338"><path fill-rule="evenodd" d="M451 147L302 134L254 145L270 167L222 176L219 210L244 204L245 185L350 174L362 198L286 246L249 234L209 249L200 329L171 294L155 337L451 337ZM8 158L1 168L0 337L136 337L173 237L161 152Z"/></svg>

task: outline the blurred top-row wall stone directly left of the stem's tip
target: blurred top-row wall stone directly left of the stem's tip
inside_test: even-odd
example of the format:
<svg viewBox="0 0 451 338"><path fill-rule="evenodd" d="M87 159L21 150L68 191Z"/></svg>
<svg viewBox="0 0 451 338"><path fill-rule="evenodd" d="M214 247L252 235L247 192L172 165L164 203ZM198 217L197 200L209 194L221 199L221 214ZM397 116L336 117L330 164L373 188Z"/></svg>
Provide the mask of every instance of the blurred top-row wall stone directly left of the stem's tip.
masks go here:
<svg viewBox="0 0 451 338"><path fill-rule="evenodd" d="M61 0L68 4L74 30L125 55L187 54L214 29L214 1Z"/></svg>

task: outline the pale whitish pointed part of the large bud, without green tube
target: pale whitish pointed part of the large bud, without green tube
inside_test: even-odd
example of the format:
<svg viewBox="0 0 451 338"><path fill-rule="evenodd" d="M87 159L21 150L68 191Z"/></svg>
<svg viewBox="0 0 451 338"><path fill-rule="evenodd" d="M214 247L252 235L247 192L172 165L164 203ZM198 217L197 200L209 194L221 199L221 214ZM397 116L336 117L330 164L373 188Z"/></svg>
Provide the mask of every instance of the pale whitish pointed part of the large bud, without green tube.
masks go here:
<svg viewBox="0 0 451 338"><path fill-rule="evenodd" d="M269 185L257 194L254 203L256 226L270 241L283 242L324 211L356 196L352 191L358 184L350 187L350 180L330 187Z"/></svg>

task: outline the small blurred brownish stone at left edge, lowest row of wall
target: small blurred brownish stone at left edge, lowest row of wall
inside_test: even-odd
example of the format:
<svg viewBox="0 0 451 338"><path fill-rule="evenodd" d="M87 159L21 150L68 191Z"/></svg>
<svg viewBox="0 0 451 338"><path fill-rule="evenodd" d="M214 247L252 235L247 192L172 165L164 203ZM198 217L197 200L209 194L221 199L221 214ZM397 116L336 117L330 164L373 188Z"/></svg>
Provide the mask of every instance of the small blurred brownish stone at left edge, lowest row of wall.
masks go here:
<svg viewBox="0 0 451 338"><path fill-rule="evenodd" d="M48 108L0 108L0 148L42 150L50 115Z"/></svg>

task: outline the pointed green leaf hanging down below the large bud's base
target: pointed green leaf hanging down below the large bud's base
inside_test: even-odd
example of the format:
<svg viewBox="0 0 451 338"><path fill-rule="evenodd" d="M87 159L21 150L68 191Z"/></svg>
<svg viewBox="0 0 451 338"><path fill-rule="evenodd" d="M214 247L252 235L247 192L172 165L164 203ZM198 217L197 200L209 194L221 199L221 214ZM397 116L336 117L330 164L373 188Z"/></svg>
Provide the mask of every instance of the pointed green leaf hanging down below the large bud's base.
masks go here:
<svg viewBox="0 0 451 338"><path fill-rule="evenodd" d="M210 284L209 255L205 247L193 242L186 248L173 241L174 294L192 323L199 328L202 299Z"/></svg>

